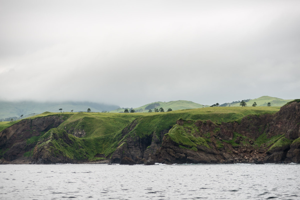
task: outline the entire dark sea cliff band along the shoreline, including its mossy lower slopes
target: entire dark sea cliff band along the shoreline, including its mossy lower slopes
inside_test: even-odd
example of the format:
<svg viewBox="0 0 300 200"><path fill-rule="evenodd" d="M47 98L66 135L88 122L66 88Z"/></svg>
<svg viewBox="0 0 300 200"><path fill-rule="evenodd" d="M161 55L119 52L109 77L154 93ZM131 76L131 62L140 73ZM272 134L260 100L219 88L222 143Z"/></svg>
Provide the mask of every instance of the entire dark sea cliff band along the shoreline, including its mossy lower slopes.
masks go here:
<svg viewBox="0 0 300 200"><path fill-rule="evenodd" d="M231 122L167 122L164 116L139 117L116 134L97 138L58 129L64 115L25 119L0 132L0 163L300 163L300 100L275 114ZM160 123L158 131L145 129L151 120Z"/></svg>

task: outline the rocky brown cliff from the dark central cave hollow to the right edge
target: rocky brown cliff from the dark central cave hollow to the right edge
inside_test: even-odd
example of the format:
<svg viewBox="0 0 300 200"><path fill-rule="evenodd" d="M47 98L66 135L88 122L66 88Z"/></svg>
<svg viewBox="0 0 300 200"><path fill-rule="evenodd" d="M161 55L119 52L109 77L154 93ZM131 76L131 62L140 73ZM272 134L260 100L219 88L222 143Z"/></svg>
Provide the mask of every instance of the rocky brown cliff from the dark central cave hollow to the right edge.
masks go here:
<svg viewBox="0 0 300 200"><path fill-rule="evenodd" d="M113 154L112 162L300 163L299 128L299 100L274 115L248 115L240 123L179 119L159 134L128 137Z"/></svg>

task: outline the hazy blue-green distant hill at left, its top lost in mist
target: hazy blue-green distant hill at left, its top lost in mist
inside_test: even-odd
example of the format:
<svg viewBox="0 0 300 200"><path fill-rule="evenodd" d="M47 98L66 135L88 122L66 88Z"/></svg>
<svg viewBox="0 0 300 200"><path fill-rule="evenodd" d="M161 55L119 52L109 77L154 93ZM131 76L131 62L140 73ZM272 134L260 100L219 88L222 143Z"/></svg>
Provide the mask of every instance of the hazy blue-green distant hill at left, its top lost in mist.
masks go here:
<svg viewBox="0 0 300 200"><path fill-rule="evenodd" d="M94 103L88 101L64 101L64 102L34 102L34 101L0 101L0 120L7 121L6 118L19 119L33 116L34 114L49 112L73 112L86 111L88 108L92 112L102 112L104 110L114 110L120 106ZM10 119L8 119L9 121Z"/></svg>

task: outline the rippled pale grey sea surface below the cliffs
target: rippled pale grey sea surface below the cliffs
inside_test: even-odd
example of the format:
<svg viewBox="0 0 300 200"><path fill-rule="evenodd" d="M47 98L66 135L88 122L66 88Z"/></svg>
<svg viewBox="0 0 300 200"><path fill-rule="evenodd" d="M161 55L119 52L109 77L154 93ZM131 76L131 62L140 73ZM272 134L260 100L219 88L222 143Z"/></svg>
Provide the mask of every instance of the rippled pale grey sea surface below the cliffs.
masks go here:
<svg viewBox="0 0 300 200"><path fill-rule="evenodd" d="M300 199L300 165L0 165L0 199Z"/></svg>

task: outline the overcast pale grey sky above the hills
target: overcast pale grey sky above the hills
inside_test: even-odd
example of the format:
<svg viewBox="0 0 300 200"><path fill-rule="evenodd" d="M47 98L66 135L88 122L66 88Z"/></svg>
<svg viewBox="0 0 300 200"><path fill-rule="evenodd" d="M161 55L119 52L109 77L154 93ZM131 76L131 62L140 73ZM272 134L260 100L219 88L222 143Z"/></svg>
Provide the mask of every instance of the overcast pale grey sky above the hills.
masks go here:
<svg viewBox="0 0 300 200"><path fill-rule="evenodd" d="M300 99L300 1L0 0L0 99Z"/></svg>

